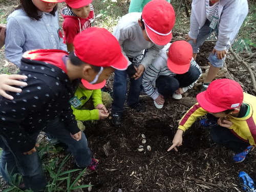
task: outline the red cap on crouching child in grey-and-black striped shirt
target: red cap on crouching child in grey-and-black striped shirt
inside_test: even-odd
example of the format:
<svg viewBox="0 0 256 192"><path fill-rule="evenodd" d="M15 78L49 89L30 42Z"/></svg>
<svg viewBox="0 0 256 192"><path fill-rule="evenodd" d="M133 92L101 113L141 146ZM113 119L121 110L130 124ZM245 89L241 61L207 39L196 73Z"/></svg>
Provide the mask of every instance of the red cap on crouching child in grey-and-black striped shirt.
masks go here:
<svg viewBox="0 0 256 192"><path fill-rule="evenodd" d="M186 73L190 67L192 56L193 49L188 42L184 40L175 41L169 47L167 67L177 74Z"/></svg>

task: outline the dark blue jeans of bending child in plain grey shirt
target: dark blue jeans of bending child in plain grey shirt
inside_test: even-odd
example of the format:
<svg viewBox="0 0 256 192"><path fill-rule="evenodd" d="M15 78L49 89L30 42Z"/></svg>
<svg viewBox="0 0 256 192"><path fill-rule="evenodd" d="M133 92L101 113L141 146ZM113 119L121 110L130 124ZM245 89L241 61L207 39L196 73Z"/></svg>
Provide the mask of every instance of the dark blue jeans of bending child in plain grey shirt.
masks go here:
<svg viewBox="0 0 256 192"><path fill-rule="evenodd" d="M127 90L127 73L126 71L115 70L114 82L113 82L113 102L112 112L123 113L124 102ZM139 102L139 95L142 90L142 75L135 80L130 78L130 88L127 95L126 103L130 106Z"/></svg>

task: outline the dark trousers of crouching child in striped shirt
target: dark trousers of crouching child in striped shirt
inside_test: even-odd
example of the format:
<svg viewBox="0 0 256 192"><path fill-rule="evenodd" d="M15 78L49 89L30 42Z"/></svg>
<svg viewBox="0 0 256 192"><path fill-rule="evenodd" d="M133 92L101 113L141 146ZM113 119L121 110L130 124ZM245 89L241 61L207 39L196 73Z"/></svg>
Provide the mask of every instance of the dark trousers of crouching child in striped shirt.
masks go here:
<svg viewBox="0 0 256 192"><path fill-rule="evenodd" d="M184 74L175 76L159 76L156 79L156 88L165 100L173 95L178 88L185 88L195 82L200 76L200 71L194 66L190 66L189 70Z"/></svg>

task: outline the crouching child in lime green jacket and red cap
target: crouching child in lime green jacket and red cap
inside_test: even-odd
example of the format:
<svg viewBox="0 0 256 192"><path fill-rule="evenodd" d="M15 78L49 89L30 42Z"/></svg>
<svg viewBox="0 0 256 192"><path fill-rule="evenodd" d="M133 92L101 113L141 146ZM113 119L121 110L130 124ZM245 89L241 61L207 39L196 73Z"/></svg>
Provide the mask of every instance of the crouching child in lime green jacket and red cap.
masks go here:
<svg viewBox="0 0 256 192"><path fill-rule="evenodd" d="M109 93L101 92L100 89L104 86L105 80L98 84L90 84L87 80L81 80L75 93L78 102L71 106L81 131L86 128L82 121L105 119L109 116L106 108L111 105L111 96Z"/></svg>

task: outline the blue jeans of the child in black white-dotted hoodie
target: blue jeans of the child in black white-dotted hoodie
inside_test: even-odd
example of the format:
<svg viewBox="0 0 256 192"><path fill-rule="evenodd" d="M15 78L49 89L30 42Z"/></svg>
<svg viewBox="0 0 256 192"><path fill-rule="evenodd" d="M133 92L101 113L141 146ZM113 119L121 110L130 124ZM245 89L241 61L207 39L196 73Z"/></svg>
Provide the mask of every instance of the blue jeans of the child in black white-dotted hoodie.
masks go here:
<svg viewBox="0 0 256 192"><path fill-rule="evenodd" d="M70 136L70 132L65 128L60 118L50 121L49 125L43 131L69 146L77 166L83 168L90 165L92 153L88 147L87 138L84 133L82 133L82 138L76 141ZM31 135L31 138L36 140L38 134L39 132ZM47 181L45 173L42 170L38 152L32 153L31 155L24 155L22 152L16 150L8 139L3 136L0 137L0 147L3 148L0 172L6 181L10 181L5 173L5 165L7 163L9 173L13 169L12 175L19 173L23 176L26 188L31 188L33 191L45 188Z"/></svg>

